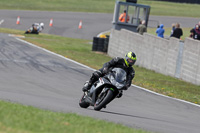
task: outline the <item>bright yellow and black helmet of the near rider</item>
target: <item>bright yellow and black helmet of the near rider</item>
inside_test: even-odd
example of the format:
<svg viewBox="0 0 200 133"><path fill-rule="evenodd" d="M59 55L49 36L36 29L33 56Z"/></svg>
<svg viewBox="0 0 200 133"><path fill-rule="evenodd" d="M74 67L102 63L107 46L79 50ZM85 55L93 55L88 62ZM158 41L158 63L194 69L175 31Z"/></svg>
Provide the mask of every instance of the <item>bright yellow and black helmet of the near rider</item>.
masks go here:
<svg viewBox="0 0 200 133"><path fill-rule="evenodd" d="M124 59L126 66L128 67L134 65L136 60L137 60L137 57L134 52L128 52Z"/></svg>

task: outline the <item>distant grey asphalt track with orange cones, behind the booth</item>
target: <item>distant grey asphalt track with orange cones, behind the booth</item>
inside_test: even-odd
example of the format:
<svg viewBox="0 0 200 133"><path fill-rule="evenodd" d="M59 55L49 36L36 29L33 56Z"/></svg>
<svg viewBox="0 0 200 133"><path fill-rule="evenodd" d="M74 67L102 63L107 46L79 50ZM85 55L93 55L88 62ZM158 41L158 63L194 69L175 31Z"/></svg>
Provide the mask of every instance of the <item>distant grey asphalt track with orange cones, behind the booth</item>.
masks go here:
<svg viewBox="0 0 200 133"><path fill-rule="evenodd" d="M20 25L16 25L18 16L20 16ZM53 26L49 27L51 18ZM45 24L43 33L93 40L93 37L100 32L112 28L113 14L0 10L0 22L2 20L4 22L0 24L0 27L3 28L25 31L33 23L43 22ZM82 20L82 29L78 28L80 20ZM165 27L171 27L172 23L179 22L181 27L193 28L199 21L198 18L189 17L150 16L148 26L157 27L158 24L164 24Z"/></svg>

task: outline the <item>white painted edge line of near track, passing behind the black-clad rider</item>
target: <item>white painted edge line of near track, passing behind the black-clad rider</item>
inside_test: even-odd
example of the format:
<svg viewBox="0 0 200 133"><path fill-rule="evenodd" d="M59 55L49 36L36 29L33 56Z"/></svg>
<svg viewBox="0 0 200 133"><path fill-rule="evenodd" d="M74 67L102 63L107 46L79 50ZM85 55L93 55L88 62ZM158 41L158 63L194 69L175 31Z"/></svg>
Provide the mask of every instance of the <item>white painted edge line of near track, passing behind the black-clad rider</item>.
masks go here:
<svg viewBox="0 0 200 133"><path fill-rule="evenodd" d="M83 66L83 67L85 67L85 68L87 68L87 69L90 69L90 70L95 71L95 69L93 69L93 68L91 68L91 67L88 67L88 66L83 65L83 64L81 64L81 63L79 63L79 62L76 62L76 61L74 61L74 60L71 60L71 59L69 59L69 58L66 58L66 57L64 57L64 56L62 56L62 55L56 54L56 53L51 52L51 51L49 51L49 50L47 50L47 49L41 48L41 47L39 47L39 46L36 46L36 45L34 45L34 44L32 44L32 43L29 43L29 42L27 42L27 41L24 41L24 40L22 40L22 39L20 39L20 38L16 38L16 39L19 40L19 41L21 41L21 42L23 42L23 43L26 43L26 44L28 44L28 45L31 45L31 46L33 46L33 47L42 49L42 50L44 50L44 51L46 51L46 52L48 52L48 53L51 53L51 54L56 55L56 56L58 56L58 57L61 57L61 58L65 59L65 60L68 60L68 61L71 61L71 62L73 62L73 63L76 63L76 64L78 64L78 65L80 65L80 66ZM198 105L198 104L191 103L191 102L188 102L188 101L185 101L185 100L181 100L181 99L177 99L177 98L173 98L173 97L169 97L169 96L165 96L165 95L156 93L156 92L154 92L154 91L151 91L151 90L142 88L142 87L140 87L140 86L136 86L136 85L133 85L133 84L132 84L131 86L133 86L133 87L135 87L135 88L138 88L138 89L141 89L141 90L144 90L144 91L147 91L147 92L149 92L149 93L153 93L153 94L158 95L158 96L163 96L163 97L166 97L166 98L169 98L169 99L177 100L177 101L180 101L180 102L184 102L184 103L188 103L188 104L191 104L191 105L200 107L200 105Z"/></svg>

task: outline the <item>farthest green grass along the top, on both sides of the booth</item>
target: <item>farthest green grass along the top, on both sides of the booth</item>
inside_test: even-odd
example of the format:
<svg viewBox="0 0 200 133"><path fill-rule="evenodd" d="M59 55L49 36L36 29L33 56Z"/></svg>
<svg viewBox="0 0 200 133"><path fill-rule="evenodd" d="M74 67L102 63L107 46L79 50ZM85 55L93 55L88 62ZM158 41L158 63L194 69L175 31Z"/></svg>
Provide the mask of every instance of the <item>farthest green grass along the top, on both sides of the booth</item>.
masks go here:
<svg viewBox="0 0 200 133"><path fill-rule="evenodd" d="M122 0L125 1L125 0ZM138 0L151 6L151 15L199 17L199 4ZM0 0L0 9L113 13L115 0Z"/></svg>

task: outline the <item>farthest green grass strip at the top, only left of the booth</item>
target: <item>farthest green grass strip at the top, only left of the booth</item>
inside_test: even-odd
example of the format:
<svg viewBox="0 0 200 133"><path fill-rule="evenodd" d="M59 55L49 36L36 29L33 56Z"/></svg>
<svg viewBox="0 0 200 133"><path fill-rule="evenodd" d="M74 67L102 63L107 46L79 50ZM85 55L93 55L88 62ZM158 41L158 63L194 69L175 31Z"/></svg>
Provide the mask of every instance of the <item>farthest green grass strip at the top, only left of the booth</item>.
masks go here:
<svg viewBox="0 0 200 133"><path fill-rule="evenodd" d="M0 9L113 12L115 0L0 0Z"/></svg>

